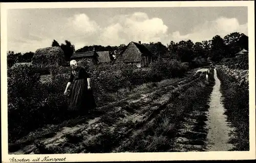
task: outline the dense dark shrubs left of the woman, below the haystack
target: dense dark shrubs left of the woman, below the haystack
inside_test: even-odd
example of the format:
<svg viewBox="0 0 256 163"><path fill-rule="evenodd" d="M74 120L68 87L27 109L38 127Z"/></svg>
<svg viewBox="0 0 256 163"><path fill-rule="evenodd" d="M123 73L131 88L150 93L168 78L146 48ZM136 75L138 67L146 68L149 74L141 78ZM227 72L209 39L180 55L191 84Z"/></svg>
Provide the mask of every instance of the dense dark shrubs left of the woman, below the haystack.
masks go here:
<svg viewBox="0 0 256 163"><path fill-rule="evenodd" d="M65 118L68 98L63 95L69 74L40 83L34 67L8 70L8 135L12 141L43 125Z"/></svg>

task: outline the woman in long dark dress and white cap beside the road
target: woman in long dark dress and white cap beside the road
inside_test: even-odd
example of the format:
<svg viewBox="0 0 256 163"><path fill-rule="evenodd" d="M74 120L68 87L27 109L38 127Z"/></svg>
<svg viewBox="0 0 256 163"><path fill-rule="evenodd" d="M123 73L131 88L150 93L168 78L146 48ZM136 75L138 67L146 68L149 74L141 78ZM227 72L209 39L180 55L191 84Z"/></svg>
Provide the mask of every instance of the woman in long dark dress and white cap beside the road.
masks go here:
<svg viewBox="0 0 256 163"><path fill-rule="evenodd" d="M69 82L64 91L64 95L67 95L67 90L73 82L73 86L70 90L70 104L69 111L75 115L86 113L89 109L96 107L94 96L91 90L91 78L81 66L77 66L75 60L70 61L72 72L70 74Z"/></svg>

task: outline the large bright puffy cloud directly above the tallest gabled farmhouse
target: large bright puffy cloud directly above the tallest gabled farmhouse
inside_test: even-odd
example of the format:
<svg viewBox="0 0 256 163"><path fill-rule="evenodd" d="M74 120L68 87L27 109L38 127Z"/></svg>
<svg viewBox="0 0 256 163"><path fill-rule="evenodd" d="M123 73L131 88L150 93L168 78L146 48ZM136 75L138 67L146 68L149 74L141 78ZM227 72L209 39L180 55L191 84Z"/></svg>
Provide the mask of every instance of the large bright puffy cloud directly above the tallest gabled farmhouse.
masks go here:
<svg viewBox="0 0 256 163"><path fill-rule="evenodd" d="M119 15L115 17L118 27L113 29L119 32L120 40L116 44L130 41L156 42L161 41L167 34L168 27L160 18L149 18L146 13L135 12L130 15Z"/></svg>

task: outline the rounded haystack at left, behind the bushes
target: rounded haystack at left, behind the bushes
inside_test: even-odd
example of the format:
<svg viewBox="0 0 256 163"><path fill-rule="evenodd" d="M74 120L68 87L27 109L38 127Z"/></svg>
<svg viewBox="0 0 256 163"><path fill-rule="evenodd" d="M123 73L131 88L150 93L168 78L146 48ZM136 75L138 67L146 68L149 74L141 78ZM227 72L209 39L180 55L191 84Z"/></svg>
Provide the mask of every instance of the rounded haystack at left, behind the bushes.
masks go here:
<svg viewBox="0 0 256 163"><path fill-rule="evenodd" d="M64 66L66 65L64 52L57 46L38 49L32 58L32 64L38 68Z"/></svg>

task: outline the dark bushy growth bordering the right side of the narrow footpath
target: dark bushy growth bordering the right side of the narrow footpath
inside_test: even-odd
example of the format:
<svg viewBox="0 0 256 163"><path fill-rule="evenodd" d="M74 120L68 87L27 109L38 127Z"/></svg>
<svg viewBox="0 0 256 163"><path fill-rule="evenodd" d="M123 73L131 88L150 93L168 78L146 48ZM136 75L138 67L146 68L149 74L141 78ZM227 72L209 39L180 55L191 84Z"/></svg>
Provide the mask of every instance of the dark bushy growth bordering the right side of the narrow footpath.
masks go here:
<svg viewBox="0 0 256 163"><path fill-rule="evenodd" d="M249 85L248 69L238 75L237 69L219 66L217 75L221 81L222 101L225 115L233 127L232 151L249 151ZM239 82L238 82L239 81Z"/></svg>

